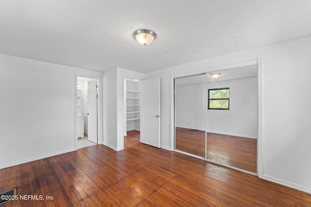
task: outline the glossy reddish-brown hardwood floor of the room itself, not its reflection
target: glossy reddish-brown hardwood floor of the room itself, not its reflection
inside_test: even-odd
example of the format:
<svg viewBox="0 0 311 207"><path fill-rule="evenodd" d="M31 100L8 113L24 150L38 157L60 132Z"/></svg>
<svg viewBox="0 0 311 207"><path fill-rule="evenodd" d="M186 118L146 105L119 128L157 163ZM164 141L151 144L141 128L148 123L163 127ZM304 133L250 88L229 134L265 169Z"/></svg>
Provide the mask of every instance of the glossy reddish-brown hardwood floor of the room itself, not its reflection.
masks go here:
<svg viewBox="0 0 311 207"><path fill-rule="evenodd" d="M1 207L311 206L311 195L177 152L139 143L116 152L93 145L0 169L0 192L46 195Z"/></svg>

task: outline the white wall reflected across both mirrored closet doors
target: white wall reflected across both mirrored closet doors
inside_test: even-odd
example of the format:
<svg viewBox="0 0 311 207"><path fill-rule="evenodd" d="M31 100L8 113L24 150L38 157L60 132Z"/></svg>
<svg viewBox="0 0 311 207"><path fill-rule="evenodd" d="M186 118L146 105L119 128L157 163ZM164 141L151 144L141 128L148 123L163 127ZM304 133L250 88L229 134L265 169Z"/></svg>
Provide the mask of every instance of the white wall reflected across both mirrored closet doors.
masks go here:
<svg viewBox="0 0 311 207"><path fill-rule="evenodd" d="M230 110L207 110L206 116L205 90L226 87ZM176 127L257 139L257 78L175 86L175 111Z"/></svg>

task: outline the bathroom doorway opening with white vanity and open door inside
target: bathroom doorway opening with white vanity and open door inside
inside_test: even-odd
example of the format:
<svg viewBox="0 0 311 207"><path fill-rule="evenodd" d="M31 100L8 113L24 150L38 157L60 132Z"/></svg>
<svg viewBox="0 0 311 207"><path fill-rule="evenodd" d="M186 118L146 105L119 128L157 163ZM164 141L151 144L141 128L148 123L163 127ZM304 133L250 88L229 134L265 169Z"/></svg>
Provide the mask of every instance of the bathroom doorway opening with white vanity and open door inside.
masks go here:
<svg viewBox="0 0 311 207"><path fill-rule="evenodd" d="M77 148L98 143L99 80L77 76Z"/></svg>

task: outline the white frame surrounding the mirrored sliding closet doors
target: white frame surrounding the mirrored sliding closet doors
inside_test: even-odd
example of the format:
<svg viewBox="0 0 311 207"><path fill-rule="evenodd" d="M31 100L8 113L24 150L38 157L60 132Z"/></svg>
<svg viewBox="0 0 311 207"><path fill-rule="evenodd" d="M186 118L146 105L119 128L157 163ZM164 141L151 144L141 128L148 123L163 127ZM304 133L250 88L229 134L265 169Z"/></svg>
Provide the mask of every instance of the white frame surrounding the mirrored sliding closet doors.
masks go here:
<svg viewBox="0 0 311 207"><path fill-rule="evenodd" d="M190 71L190 72L185 72L185 73L181 73L181 74L176 74L176 75L172 75L171 76L171 151L175 151L175 144L174 144L174 139L175 139L175 98L174 98L174 79L175 78L182 78L182 77L186 77L186 76L193 76L193 75L198 75L198 74L202 74L202 73L207 73L207 72L218 72L221 70L226 70L226 69L232 69L232 68L237 68L237 67L243 67L243 66L249 66L249 65L258 65L258 76L257 76L257 88L258 88L258 127L257 127L257 176L259 178L263 177L263 163L262 163L262 139L261 139L261 135L262 135L262 105L261 105L261 93L262 93L262 80L261 80L261 71L262 71L262 59L255 59L255 60L250 60L250 61L246 61L246 62L241 62L241 63L234 63L234 64L227 64L227 65L223 65L223 66L217 66L217 67L210 67L210 68L205 68L205 69L201 69L201 70L197 70L197 71ZM187 155L190 155L192 157L196 157L193 156L189 153L185 153ZM202 158L200 158L202 159ZM204 159L207 160L207 159ZM209 162L212 162L210 160L207 160ZM215 162L216 163L216 162ZM219 165L223 165L221 163L216 163ZM244 173L248 173L251 175L255 175L253 173L250 173L248 171L239 169L239 168L235 168L232 166L227 166L227 165L223 165L225 167L228 168L232 168Z"/></svg>

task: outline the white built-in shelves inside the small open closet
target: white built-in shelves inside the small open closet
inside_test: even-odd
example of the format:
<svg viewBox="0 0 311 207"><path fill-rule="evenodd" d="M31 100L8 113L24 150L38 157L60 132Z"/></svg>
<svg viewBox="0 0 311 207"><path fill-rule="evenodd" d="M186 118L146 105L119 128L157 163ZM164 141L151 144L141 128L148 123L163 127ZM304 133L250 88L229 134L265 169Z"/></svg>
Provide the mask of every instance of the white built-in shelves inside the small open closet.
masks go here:
<svg viewBox="0 0 311 207"><path fill-rule="evenodd" d="M126 131L140 130L140 81L125 80Z"/></svg>

